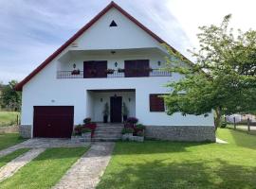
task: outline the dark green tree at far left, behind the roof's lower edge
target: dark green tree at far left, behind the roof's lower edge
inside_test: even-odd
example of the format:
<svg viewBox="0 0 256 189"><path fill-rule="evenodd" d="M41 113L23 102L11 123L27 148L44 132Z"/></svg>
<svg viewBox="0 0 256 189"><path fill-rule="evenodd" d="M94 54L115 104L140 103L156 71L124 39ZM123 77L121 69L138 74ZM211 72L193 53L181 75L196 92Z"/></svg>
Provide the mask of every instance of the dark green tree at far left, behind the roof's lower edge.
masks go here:
<svg viewBox="0 0 256 189"><path fill-rule="evenodd" d="M5 85L1 94L1 106L12 111L20 111L21 109L21 93L16 92L14 87L18 82L16 80L9 81Z"/></svg>

